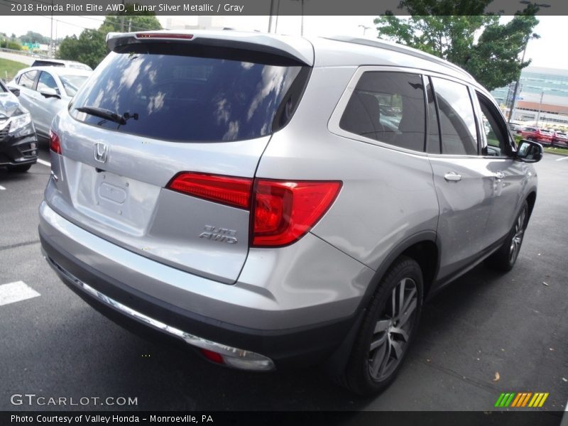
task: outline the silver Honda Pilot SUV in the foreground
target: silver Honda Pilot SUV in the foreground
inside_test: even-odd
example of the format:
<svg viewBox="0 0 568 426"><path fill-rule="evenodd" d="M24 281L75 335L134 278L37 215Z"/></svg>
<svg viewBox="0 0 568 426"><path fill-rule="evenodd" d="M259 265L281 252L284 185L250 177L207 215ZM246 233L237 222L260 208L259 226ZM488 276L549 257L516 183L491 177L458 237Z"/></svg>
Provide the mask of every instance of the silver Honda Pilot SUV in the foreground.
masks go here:
<svg viewBox="0 0 568 426"><path fill-rule="evenodd" d="M516 146L459 67L349 38L107 44L53 121L39 233L125 327L250 371L323 363L376 393L427 297L481 261L513 267L542 147Z"/></svg>

